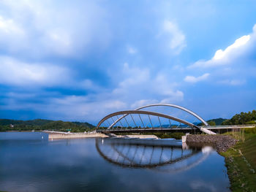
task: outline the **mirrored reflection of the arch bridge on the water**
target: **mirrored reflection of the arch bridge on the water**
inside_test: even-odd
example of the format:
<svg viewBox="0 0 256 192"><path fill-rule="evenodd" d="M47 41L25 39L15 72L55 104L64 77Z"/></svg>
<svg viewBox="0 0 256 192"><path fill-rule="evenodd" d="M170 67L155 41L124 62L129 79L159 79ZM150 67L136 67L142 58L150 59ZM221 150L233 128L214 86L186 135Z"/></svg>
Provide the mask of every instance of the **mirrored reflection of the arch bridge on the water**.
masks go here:
<svg viewBox="0 0 256 192"><path fill-rule="evenodd" d="M181 142L170 139L96 139L96 148L112 164L162 172L190 169L213 150L211 147L184 148Z"/></svg>

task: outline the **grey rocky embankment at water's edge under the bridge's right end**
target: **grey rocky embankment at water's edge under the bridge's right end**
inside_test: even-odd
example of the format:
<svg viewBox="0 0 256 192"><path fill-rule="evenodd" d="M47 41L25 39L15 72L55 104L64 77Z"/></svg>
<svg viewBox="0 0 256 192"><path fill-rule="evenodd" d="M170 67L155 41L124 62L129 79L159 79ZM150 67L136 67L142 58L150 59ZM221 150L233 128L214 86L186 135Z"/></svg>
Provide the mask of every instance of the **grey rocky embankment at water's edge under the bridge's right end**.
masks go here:
<svg viewBox="0 0 256 192"><path fill-rule="evenodd" d="M189 146L205 146L211 145L216 148L217 152L225 152L233 145L236 145L238 140L229 135L202 135L194 134L187 136L187 145Z"/></svg>

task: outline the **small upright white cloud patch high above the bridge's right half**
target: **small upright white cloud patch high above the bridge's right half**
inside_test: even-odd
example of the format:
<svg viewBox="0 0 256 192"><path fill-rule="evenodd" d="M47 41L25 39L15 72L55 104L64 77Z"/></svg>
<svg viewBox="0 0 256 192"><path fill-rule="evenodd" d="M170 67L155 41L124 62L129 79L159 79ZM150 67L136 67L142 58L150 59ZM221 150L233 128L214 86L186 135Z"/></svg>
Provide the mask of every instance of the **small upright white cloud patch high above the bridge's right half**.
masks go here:
<svg viewBox="0 0 256 192"><path fill-rule="evenodd" d="M172 50L174 54L181 53L181 50L187 46L184 33L170 20L163 22L160 36L164 36L167 47Z"/></svg>

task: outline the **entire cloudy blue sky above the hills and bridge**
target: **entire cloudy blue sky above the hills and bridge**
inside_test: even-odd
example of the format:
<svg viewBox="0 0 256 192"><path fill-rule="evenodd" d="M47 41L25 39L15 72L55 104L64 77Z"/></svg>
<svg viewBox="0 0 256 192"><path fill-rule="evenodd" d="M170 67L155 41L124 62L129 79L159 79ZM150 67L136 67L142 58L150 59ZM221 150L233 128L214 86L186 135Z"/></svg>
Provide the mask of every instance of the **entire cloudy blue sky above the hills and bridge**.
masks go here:
<svg viewBox="0 0 256 192"><path fill-rule="evenodd" d="M256 108L256 1L0 0L0 118Z"/></svg>

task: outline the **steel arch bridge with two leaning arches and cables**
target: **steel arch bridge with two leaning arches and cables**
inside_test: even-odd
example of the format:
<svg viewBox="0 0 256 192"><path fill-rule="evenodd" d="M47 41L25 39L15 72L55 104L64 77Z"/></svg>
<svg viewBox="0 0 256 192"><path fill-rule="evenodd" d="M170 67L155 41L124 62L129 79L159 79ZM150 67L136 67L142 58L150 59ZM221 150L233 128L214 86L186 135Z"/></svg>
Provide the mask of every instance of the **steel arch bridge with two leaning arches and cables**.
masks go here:
<svg viewBox="0 0 256 192"><path fill-rule="evenodd" d="M195 123L191 123L188 120L177 118L173 115L162 112L145 110L148 107L159 106L181 110L188 115L194 116L194 118L203 123L204 126L208 126L208 123L203 120L203 118L185 107L181 107L176 104L148 104L143 107L138 107L135 110L125 110L111 113L99 121L96 130L104 133L195 130L203 131L206 134L216 134L207 128L197 126ZM153 118L156 120L152 120ZM167 120L168 124L164 125L162 120L165 120L165 122Z"/></svg>

